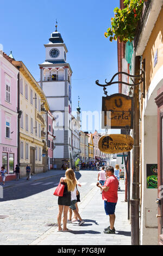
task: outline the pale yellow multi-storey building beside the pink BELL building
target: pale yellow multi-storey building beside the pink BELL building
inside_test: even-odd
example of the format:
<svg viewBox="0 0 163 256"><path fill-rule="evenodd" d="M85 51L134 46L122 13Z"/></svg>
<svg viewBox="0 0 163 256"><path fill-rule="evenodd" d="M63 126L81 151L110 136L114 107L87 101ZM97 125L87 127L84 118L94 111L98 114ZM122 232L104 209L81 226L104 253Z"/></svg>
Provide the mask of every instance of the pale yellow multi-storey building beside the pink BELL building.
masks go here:
<svg viewBox="0 0 163 256"><path fill-rule="evenodd" d="M49 106L39 84L23 62L14 61L20 70L20 175L26 175L29 164L31 173L47 170L47 111Z"/></svg>

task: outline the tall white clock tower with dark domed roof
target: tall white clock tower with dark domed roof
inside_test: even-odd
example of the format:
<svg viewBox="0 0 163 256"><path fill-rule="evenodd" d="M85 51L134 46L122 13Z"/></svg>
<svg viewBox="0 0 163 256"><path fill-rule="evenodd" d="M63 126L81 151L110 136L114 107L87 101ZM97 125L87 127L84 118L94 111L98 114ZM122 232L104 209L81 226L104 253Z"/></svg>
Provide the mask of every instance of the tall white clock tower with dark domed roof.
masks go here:
<svg viewBox="0 0 163 256"><path fill-rule="evenodd" d="M45 44L46 59L40 64L40 87L46 95L50 110L55 118L53 135L55 139L54 164L71 164L71 75L66 62L67 47L57 31L51 34Z"/></svg>

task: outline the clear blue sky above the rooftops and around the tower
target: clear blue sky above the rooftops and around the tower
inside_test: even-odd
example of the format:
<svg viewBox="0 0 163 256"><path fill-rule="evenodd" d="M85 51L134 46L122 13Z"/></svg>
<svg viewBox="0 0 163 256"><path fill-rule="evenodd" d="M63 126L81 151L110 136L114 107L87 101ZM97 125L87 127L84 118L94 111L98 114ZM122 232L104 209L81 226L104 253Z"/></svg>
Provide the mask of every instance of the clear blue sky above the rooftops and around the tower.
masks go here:
<svg viewBox="0 0 163 256"><path fill-rule="evenodd" d="M7 54L12 51L22 60L36 81L40 80L38 64L45 60L45 47L55 31L55 19L72 68L72 110L101 111L103 88L95 84L110 81L117 72L117 42L110 42L104 32L110 27L119 0L15 0L1 2L0 44ZM108 95L118 86L108 87Z"/></svg>

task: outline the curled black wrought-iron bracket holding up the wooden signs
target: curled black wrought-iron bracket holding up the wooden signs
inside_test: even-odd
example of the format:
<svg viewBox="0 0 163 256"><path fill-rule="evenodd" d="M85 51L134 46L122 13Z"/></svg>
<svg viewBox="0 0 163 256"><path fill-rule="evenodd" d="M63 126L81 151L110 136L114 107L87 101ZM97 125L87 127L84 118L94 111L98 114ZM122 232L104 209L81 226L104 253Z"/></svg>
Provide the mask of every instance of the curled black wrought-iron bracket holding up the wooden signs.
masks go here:
<svg viewBox="0 0 163 256"><path fill-rule="evenodd" d="M139 86L139 84L141 83L144 83L144 77L145 77L145 71L141 70L142 73L140 75L130 75L126 72L117 72L110 80L110 82L106 82L106 79L105 79L105 83L106 84L99 84L99 80L96 80L96 84L97 86L101 86L103 87L103 90L104 90L104 94L106 96L108 96L108 92L106 91L106 86L111 86L112 84L116 84L116 83L121 83L121 84L126 84L126 86L130 86L130 91L129 91L129 95L132 94L131 90L133 90L133 86ZM127 83L127 82L123 82L123 81L115 81L113 82L114 78L117 76L117 75L126 75L126 76L129 76L131 78L131 81L133 82L133 84L130 84L130 83ZM134 80L132 78L137 78L137 80L140 80L139 83L135 83Z"/></svg>

